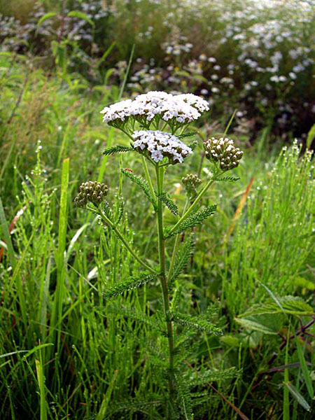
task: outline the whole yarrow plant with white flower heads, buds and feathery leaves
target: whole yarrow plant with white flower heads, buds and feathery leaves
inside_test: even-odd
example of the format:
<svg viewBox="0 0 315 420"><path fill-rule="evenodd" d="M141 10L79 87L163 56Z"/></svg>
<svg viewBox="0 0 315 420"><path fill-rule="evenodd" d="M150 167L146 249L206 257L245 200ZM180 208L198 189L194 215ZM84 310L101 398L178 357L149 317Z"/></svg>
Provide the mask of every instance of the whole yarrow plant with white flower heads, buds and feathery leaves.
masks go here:
<svg viewBox="0 0 315 420"><path fill-rule="evenodd" d="M167 419L177 419L184 412L186 419L193 419L191 389L214 380L214 377L217 380L235 376L234 370L215 374L213 370L201 370L200 379L192 380L186 373L183 358L180 356L192 337L193 330L215 335L222 334L221 328L213 323L214 310L207 309L200 317L180 313L177 305L179 293L177 279L193 252L194 241L191 229L203 223L216 211L216 205L202 207L202 197L215 181L237 180L232 177L221 177L221 175L237 167L243 155L243 152L235 148L232 140L211 138L206 141L204 150L206 158L212 165L211 177L202 181L195 174L183 176L182 182L186 188L187 198L180 215L176 203L164 189L165 173L169 165L181 164L193 154L197 143L187 145L182 140L191 136L191 133L186 132L188 125L208 110L208 103L194 94L172 95L165 92L140 94L134 100L118 102L102 110L104 122L123 131L131 141L130 147L113 146L106 149L104 154L137 152L141 155L145 179L136 176L129 169L122 170L122 173L137 183L153 206L157 220L158 262L156 266L152 266L141 258L120 232L121 214L118 218L113 216L110 204L105 200L109 191L105 184L94 181L85 182L80 186L80 193L75 199L78 207L97 214L104 229L113 230L135 260L144 268L144 272L139 273L138 276L123 279L112 288L108 288L104 292L106 299L140 287L149 281L160 281L162 321L161 316L152 315L146 323L147 325L156 323L156 329L162 332L162 337L166 340L167 355L165 358L161 356L158 364L159 369L162 370L160 386L163 387L163 378L167 377L167 386L165 386L168 389L165 399ZM148 165L153 167L155 179L151 176ZM165 226L165 207L177 218L173 225ZM181 244L184 232L186 240ZM166 252L168 243L172 244L172 250ZM145 315L141 316L143 318ZM176 328L176 325L179 325L179 328Z"/></svg>

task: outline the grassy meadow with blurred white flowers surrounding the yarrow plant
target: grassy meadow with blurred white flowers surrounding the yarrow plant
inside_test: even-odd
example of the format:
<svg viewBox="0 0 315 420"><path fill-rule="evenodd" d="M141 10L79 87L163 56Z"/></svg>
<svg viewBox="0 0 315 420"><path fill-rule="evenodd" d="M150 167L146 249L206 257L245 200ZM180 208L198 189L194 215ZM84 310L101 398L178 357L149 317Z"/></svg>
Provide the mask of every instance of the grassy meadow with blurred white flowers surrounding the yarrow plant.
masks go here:
<svg viewBox="0 0 315 420"><path fill-rule="evenodd" d="M196 381L194 419L313 419L314 1L0 0L0 13L0 418L165 419L145 317L159 288L106 304L139 266L73 204L84 181L120 184L125 237L155 259L152 211L120 175L141 175L139 159L102 156L128 141L99 111L164 90L209 101L200 146L229 125L244 150L240 180L204 199L218 211L177 285L183 311L216 307L224 332L192 332L191 380L217 372ZM197 156L182 168L167 179L179 207L181 177L209 174Z"/></svg>

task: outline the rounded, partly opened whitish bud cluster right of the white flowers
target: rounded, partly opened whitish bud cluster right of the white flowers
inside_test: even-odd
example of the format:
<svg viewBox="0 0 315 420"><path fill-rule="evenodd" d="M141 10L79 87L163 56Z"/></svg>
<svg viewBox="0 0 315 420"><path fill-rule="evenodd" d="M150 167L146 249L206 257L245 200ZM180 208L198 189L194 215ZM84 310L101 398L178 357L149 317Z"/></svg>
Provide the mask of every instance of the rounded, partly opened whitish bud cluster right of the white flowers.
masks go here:
<svg viewBox="0 0 315 420"><path fill-rule="evenodd" d="M211 137L204 143L204 150L206 158L210 162L218 162L223 171L236 168L243 156L243 152L238 147L235 148L233 140L223 137L221 139Z"/></svg>

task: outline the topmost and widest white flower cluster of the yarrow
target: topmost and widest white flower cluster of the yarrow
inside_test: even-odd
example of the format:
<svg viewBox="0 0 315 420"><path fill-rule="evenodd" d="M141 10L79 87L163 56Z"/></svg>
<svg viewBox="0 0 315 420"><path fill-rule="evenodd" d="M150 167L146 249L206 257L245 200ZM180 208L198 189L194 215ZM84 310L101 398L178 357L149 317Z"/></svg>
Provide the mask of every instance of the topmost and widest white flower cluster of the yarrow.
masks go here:
<svg viewBox="0 0 315 420"><path fill-rule="evenodd" d="M146 123L150 123L155 116L166 122L191 123L208 110L208 102L194 94L174 96L166 92L152 91L139 94L134 100L127 99L106 106L101 113L104 114L105 123L119 126L129 117Z"/></svg>

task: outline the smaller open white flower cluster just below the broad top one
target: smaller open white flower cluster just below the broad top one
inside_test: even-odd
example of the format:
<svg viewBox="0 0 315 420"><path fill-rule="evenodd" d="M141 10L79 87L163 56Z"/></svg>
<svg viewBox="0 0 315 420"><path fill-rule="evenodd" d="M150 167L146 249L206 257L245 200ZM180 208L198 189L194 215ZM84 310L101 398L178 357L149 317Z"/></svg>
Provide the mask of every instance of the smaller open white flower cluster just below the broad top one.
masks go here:
<svg viewBox="0 0 315 420"><path fill-rule="evenodd" d="M169 158L172 164L182 163L184 158L193 153L192 149L173 134L153 130L140 130L132 134L134 148L139 153L148 152L154 162Z"/></svg>

